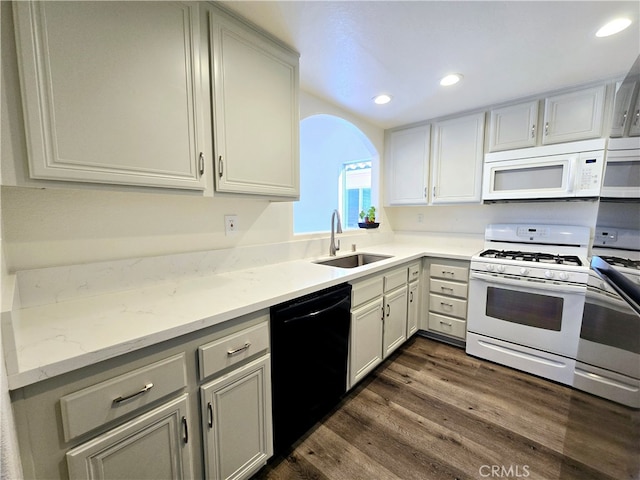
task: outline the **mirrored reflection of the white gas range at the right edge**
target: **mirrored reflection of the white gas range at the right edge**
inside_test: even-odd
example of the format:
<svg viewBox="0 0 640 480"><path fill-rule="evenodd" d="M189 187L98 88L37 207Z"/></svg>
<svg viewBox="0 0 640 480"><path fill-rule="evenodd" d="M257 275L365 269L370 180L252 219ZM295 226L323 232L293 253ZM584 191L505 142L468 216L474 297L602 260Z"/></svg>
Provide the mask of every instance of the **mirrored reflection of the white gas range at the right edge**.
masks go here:
<svg viewBox="0 0 640 480"><path fill-rule="evenodd" d="M640 231L598 226L591 253L573 386L640 408ZM635 310L620 294L624 279Z"/></svg>

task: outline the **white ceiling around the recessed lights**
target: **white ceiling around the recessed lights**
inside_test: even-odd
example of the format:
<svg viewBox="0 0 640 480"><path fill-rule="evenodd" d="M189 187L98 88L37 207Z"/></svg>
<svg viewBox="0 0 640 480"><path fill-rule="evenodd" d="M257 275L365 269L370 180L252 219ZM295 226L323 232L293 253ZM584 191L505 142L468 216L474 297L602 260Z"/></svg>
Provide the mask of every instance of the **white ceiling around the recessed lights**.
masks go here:
<svg viewBox="0 0 640 480"><path fill-rule="evenodd" d="M222 3L300 52L303 90L383 128L623 77L640 54L638 1ZM617 16L631 27L594 36Z"/></svg>

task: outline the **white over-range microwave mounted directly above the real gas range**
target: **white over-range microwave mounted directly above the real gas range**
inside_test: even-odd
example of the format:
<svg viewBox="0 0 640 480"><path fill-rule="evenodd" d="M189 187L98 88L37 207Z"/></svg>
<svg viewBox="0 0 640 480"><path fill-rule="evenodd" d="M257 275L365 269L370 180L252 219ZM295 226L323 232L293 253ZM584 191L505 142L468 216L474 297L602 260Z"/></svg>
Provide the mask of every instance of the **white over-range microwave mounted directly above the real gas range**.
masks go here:
<svg viewBox="0 0 640 480"><path fill-rule="evenodd" d="M598 197L605 139L488 153L483 201Z"/></svg>

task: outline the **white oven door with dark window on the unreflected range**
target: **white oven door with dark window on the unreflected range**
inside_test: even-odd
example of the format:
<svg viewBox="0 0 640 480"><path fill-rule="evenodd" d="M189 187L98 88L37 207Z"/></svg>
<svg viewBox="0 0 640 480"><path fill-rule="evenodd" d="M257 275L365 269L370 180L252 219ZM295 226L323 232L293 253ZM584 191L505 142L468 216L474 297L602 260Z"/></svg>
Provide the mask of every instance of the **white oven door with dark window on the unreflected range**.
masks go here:
<svg viewBox="0 0 640 480"><path fill-rule="evenodd" d="M472 271L467 329L575 359L586 286Z"/></svg>

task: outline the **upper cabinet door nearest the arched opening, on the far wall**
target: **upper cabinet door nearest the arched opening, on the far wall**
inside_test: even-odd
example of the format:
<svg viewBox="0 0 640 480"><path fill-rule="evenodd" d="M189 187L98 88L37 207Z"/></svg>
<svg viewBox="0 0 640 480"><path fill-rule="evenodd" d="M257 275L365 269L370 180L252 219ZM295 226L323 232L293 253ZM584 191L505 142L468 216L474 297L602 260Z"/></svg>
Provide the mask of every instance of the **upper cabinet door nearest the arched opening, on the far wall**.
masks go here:
<svg viewBox="0 0 640 480"><path fill-rule="evenodd" d="M390 132L387 138L387 203L426 205L430 125Z"/></svg>

